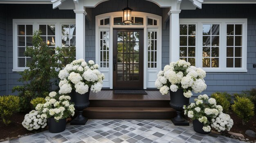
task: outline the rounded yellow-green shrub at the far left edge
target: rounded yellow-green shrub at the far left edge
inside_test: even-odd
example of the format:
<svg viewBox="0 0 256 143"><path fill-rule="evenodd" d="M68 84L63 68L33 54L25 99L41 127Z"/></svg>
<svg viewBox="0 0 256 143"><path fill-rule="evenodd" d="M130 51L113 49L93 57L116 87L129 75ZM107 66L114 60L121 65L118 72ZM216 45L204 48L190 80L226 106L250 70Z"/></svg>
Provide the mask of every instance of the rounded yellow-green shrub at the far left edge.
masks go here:
<svg viewBox="0 0 256 143"><path fill-rule="evenodd" d="M18 96L0 96L0 116L5 125L11 123L12 114L19 111L19 102Z"/></svg>

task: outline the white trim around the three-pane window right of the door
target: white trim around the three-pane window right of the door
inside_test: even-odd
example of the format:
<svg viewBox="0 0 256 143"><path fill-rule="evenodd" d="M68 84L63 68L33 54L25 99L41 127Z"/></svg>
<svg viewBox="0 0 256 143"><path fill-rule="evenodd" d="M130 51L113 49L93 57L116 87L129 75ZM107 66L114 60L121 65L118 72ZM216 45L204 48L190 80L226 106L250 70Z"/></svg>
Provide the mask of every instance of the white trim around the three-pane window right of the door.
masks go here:
<svg viewBox="0 0 256 143"><path fill-rule="evenodd" d="M247 19L180 19L180 24L196 24L195 65L202 68L202 24L220 24L219 67L202 68L206 72L247 72ZM227 24L242 24L242 67L226 67ZM179 55L177 55L179 56Z"/></svg>

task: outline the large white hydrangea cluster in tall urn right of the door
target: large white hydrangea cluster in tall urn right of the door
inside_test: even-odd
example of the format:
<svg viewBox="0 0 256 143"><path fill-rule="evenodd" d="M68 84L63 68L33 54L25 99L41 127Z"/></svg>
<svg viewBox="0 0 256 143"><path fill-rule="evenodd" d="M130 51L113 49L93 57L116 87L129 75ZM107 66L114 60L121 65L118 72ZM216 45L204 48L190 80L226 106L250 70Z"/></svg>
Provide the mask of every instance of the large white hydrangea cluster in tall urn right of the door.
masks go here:
<svg viewBox="0 0 256 143"><path fill-rule="evenodd" d="M159 71L155 86L160 89L162 95L168 93L168 91L166 92L167 89L172 92L176 92L178 89L186 89L183 95L189 98L192 96L191 91L198 93L206 89L205 71L202 68L190 65L185 60L179 60L171 62L169 65L164 66L164 70Z"/></svg>

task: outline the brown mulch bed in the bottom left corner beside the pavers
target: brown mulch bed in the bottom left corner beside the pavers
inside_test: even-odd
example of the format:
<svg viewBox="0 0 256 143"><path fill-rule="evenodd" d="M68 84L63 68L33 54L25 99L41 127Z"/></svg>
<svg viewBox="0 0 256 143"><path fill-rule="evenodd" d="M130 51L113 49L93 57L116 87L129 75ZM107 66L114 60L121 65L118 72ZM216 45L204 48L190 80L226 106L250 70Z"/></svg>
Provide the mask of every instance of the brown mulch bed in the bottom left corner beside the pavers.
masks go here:
<svg viewBox="0 0 256 143"><path fill-rule="evenodd" d="M21 123L24 120L24 117L25 113L13 114L13 116L11 117L11 123L9 125L5 125L2 121L0 121L0 139L34 133L35 131L29 131L22 126Z"/></svg>

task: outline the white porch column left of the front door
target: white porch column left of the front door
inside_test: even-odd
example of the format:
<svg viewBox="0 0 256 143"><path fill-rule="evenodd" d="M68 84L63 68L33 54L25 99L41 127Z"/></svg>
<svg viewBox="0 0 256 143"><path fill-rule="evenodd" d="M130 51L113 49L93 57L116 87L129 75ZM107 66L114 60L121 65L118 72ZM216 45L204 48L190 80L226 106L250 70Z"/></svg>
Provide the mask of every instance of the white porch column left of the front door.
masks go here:
<svg viewBox="0 0 256 143"><path fill-rule="evenodd" d="M85 15L84 9L74 10L76 13L76 59L85 59Z"/></svg>

